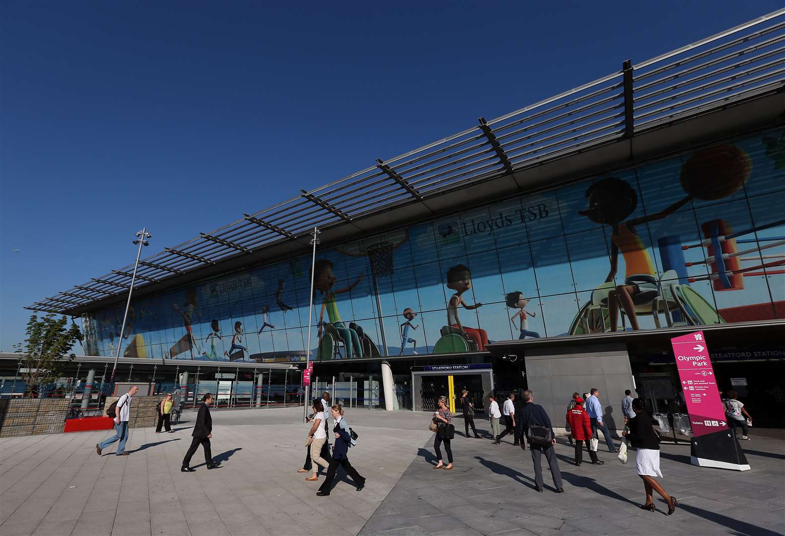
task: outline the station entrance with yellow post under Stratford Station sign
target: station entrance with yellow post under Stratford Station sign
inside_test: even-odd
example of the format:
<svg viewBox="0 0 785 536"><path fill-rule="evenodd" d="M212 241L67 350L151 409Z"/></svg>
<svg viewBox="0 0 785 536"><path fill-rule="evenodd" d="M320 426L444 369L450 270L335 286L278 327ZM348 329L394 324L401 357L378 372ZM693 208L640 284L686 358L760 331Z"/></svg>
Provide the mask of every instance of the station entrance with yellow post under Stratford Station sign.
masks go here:
<svg viewBox="0 0 785 536"><path fill-rule="evenodd" d="M436 411L440 396L447 396L451 412L460 410L463 389L469 391L474 410L484 412L494 388L491 363L413 366L411 368L414 411Z"/></svg>

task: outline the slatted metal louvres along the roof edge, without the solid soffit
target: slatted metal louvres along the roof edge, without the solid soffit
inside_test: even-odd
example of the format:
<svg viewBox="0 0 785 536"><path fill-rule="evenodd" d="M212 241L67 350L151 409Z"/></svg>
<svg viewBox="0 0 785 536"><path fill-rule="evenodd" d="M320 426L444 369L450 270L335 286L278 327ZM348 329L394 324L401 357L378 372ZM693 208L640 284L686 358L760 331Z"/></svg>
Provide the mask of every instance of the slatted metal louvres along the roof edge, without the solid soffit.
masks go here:
<svg viewBox="0 0 785 536"><path fill-rule="evenodd" d="M692 119L785 87L785 9L622 69L166 248L137 286L396 206ZM122 294L132 266L28 307L68 313Z"/></svg>

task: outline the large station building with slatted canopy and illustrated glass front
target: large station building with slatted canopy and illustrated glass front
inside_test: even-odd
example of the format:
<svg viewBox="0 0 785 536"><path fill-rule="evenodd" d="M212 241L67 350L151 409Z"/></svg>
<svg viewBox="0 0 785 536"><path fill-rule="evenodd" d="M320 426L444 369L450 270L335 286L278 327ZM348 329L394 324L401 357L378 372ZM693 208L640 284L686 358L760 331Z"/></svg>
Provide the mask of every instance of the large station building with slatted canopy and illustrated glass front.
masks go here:
<svg viewBox="0 0 785 536"><path fill-rule="evenodd" d="M783 28L771 13L267 209L246 200L140 262L122 337L133 264L30 308L79 317L85 359L119 347L134 381L299 387L310 356L347 405L531 388L560 419L599 388L617 421L626 388L678 410L670 337L703 330L718 385L782 425Z"/></svg>

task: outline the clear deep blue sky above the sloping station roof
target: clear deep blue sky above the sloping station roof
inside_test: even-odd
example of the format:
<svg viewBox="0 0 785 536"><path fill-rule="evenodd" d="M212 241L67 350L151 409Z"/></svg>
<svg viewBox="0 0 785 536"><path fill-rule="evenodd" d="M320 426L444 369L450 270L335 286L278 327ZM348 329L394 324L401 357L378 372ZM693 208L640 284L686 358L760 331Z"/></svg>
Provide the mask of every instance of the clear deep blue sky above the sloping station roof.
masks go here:
<svg viewBox="0 0 785 536"><path fill-rule="evenodd" d="M781 0L268 4L3 2L0 350L144 225L173 246Z"/></svg>

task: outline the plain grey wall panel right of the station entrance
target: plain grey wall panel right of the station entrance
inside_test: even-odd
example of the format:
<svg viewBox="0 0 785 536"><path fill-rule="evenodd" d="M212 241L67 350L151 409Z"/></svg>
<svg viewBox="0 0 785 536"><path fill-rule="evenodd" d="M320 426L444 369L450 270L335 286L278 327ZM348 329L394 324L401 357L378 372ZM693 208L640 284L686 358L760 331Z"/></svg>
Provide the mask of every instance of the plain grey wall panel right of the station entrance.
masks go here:
<svg viewBox="0 0 785 536"><path fill-rule="evenodd" d="M591 388L600 390L608 428L624 428L624 390L633 388L626 345L580 345L537 348L525 356L528 388L535 403L548 412L554 428L564 428L570 396Z"/></svg>

